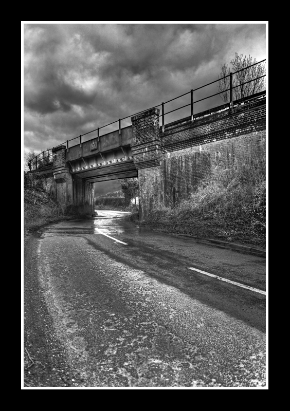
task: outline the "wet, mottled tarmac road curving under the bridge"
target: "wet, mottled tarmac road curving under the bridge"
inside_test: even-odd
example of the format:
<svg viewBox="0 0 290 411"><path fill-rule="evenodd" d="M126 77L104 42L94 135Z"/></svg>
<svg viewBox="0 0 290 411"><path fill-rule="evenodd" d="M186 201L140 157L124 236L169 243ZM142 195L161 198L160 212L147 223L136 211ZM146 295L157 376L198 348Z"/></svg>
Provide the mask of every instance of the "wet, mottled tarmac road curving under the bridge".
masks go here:
<svg viewBox="0 0 290 411"><path fill-rule="evenodd" d="M264 291L265 259L139 229L123 216L98 210L50 226L38 241L71 385L264 386L265 295L203 272Z"/></svg>

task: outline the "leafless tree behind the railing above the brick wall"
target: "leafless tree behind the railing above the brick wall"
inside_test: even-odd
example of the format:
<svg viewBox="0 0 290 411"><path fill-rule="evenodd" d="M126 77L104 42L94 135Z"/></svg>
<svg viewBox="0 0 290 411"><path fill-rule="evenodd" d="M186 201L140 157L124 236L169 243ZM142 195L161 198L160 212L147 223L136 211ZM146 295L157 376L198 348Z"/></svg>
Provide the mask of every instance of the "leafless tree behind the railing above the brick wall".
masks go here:
<svg viewBox="0 0 290 411"><path fill-rule="evenodd" d="M265 90L265 76L266 67L265 62L256 64L256 59L253 59L250 55L244 56L244 54L238 55L235 53L235 57L231 60L230 64L233 70L233 94L235 100L242 99L247 96L251 96L259 91ZM251 67L249 67L251 66ZM229 88L229 77L224 79L230 73L230 69L227 68L227 64L224 64L222 71L219 75L218 88L222 93L221 98L226 102L228 99L228 92L225 91ZM241 70L241 71L240 71ZM234 73L235 71L238 71Z"/></svg>

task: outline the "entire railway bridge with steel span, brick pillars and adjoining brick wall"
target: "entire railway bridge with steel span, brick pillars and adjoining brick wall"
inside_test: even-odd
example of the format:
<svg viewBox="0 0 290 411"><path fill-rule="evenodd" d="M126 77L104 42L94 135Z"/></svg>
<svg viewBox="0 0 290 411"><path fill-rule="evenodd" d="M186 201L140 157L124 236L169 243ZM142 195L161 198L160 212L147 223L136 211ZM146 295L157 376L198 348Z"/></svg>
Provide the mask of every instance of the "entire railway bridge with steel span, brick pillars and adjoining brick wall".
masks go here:
<svg viewBox="0 0 290 411"><path fill-rule="evenodd" d="M37 167L47 189L64 209L94 213L95 182L138 177L140 215L146 218L226 170L265 161L265 91L166 125L162 114L154 107L133 116L131 126L119 122L112 133L52 148L49 161L44 157Z"/></svg>

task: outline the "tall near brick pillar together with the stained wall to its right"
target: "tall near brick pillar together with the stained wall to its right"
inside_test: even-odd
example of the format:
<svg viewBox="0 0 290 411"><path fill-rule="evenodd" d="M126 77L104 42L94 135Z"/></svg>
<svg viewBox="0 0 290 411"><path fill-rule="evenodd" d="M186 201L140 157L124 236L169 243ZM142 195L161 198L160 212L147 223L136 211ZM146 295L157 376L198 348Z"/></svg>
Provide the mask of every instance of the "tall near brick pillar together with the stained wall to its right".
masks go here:
<svg viewBox="0 0 290 411"><path fill-rule="evenodd" d="M138 170L139 204L146 216L165 203L188 198L203 181L265 161L266 95L261 92L159 127L159 110L132 117L132 153Z"/></svg>

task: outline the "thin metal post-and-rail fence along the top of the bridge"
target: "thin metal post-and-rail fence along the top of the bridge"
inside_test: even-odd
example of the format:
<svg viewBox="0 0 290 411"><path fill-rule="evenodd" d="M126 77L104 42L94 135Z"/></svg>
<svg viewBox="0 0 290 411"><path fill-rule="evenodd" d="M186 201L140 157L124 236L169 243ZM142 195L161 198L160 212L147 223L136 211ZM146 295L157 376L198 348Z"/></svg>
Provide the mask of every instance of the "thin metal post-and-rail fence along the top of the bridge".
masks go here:
<svg viewBox="0 0 290 411"><path fill-rule="evenodd" d="M126 116L126 117L123 117L123 118L121 118L121 119L115 120L115 121L113 121L112 123L108 123L108 124L103 125L102 127L98 127L98 128L95 128L94 130L90 130L89 132L84 133L84 134L81 134L81 135L79 135L78 137L74 137L74 138L72 138L72 139L70 139L70 140L66 140L66 142L64 142L64 143L62 143L62 144L58 144L56 147L59 147L60 145L66 144L66 148L68 149L68 148L69 148L69 146L68 146L69 141L76 140L76 139L78 139L78 138L80 139L80 146L82 146L82 137L83 137L83 136L86 136L87 134L90 134L90 133L93 133L93 132L98 132L97 138L99 138L99 137L100 137L100 130L101 130L102 128L107 127L107 126L112 125L112 124L115 124L115 123L117 123L117 122L118 122L118 125L119 125L119 134L121 134L121 121L122 121L122 120L125 120L125 119L128 119L128 118L130 118L130 117L136 116L137 114L144 113L144 111L147 111L147 110L149 110L149 109L151 109L151 108L160 107L160 106L161 106L161 114L160 114L159 117L162 118L162 132L164 132L164 129L165 129L164 116L166 116L167 114L173 113L173 111L180 110L180 109L182 109L182 108L184 108L184 107L190 106L190 107L191 107L191 109L190 109L191 121L193 122L193 120L194 120L194 119L193 119L193 116L194 116L194 114L193 114L193 106L194 106L194 104L199 103L199 102L201 102L201 101L203 101L203 100L207 100L207 99L210 99L210 98L212 98L212 97L218 96L218 95L220 95L220 94L225 94L225 93L227 93L228 91L229 91L229 108L232 109L233 90L234 90L235 88L241 87L241 86L243 86L243 85L245 85L245 84L248 84L248 83L250 83L250 82L252 82L252 81L259 80L259 79L261 79L261 78L263 78L263 77L266 76L266 74L263 74L263 76L256 77L256 78L254 78L254 79L251 79L251 80L246 81L246 82L244 82L244 83L239 83L238 85L234 86L234 85L233 85L233 74L237 74L237 73L239 73L239 72L241 72L241 71L247 70L248 68L250 68L250 67L252 67L252 66L256 66L257 64L263 63L264 61L266 61L266 59L261 60L261 61L259 61L259 62L257 62L257 63L253 63L253 64L251 64L250 66L247 66L247 67L242 68L241 70L237 70L237 71L234 71L234 72L230 72L229 74L227 74L227 76L224 76L224 77L222 77L222 78L219 78L218 80L214 80L214 81L212 81L212 82L210 82L210 83L207 83L207 84L205 84L205 85L203 85L203 86L201 86L201 87L197 87L197 88L195 88L195 89L191 89L190 91L187 91L186 93L184 93L184 94L182 94L182 95L180 95L180 96L174 97L174 98L171 99L171 100L168 100L168 101L166 101L166 102L162 102L162 103L160 103L160 104L158 104L158 105L154 105L154 106L152 106L152 107L150 107L150 108L147 108L147 109L145 109L145 110L138 111L138 113L131 114L130 116ZM200 89L202 89L202 88L204 88L204 87L207 87L207 86L209 86L209 85L211 85L211 84L214 84L214 83L217 83L217 82L221 82L222 80L225 80L225 79L228 78L228 77L229 77L229 88L223 89L222 91L219 91L219 92L214 93L214 94L212 94L212 95L210 95L210 96L204 97L203 99L199 99L199 100L194 101L194 99L193 99L193 97L194 97L193 93L194 93L195 91L200 90ZM179 99L179 98L181 98L181 97L184 97L184 96L186 96L186 95L188 95L188 94L190 94L190 103L185 104L185 105L183 105L183 106L181 106L181 107L177 107L177 108L175 108L175 109L173 109L173 110L167 111L167 113L164 113L164 106L165 106L165 104L170 103L171 101L174 101L174 100ZM45 156L45 153L48 153L48 155ZM39 157L39 159L38 159L38 157ZM45 159L49 159L49 160L45 160ZM50 162L52 162L52 152L51 152L51 148L49 148L48 150L46 150L46 151L38 154L38 155L35 156L33 159L31 159L31 160L28 162L28 166L29 166L30 171L31 171L31 169L33 169L33 170L38 170L39 168L41 168L41 167L49 164Z"/></svg>

